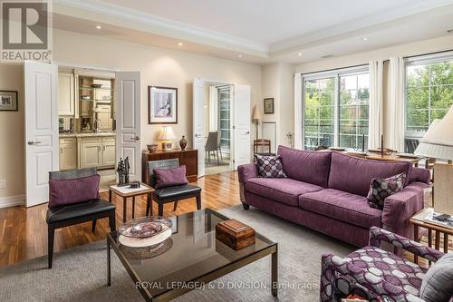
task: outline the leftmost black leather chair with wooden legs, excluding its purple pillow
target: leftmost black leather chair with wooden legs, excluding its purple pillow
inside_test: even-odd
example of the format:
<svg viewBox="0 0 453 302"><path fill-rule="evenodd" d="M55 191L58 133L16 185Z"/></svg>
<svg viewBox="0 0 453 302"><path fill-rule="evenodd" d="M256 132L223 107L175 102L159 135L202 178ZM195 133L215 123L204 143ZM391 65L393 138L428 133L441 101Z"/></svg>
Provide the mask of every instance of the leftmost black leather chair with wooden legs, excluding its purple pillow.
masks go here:
<svg viewBox="0 0 453 302"><path fill-rule="evenodd" d="M74 180L92 176L97 173L96 168L82 170L65 170L49 172L49 180ZM50 198L49 194L49 198ZM72 226L82 222L92 221L92 231L96 229L96 220L109 218L111 231L116 229L115 205L106 200L95 199L87 202L47 209L47 248L48 265L52 268L53 237L55 229Z"/></svg>

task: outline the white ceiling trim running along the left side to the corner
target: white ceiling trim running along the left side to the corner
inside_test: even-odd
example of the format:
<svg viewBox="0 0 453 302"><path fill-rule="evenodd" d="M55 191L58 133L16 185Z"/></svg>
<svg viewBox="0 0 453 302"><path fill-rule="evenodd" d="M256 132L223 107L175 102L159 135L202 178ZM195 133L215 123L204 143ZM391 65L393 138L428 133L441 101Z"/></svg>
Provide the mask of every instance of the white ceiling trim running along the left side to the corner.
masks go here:
<svg viewBox="0 0 453 302"><path fill-rule="evenodd" d="M218 46L218 44L232 45L239 52L245 51L246 53L265 57L269 54L268 44L219 33L191 24L183 24L156 15L141 13L120 5L111 5L101 1L93 2L90 0L54 0L53 4L54 13L63 13L63 15L66 15L69 11L66 11L65 8L76 8L90 13L107 15L137 24L147 25L148 29L155 29L153 34L163 34L163 31L165 34L172 35L175 38L181 38L195 43L207 44L208 41L211 41L215 42L215 44L212 44L213 46ZM92 21L94 22L94 20Z"/></svg>

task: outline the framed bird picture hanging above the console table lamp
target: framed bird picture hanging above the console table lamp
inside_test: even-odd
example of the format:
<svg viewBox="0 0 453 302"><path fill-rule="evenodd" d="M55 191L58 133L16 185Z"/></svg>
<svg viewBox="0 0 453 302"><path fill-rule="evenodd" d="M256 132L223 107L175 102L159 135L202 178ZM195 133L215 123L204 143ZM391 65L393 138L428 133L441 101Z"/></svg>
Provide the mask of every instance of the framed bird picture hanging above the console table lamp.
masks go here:
<svg viewBox="0 0 453 302"><path fill-rule="evenodd" d="M148 86L148 123L178 123L178 88Z"/></svg>

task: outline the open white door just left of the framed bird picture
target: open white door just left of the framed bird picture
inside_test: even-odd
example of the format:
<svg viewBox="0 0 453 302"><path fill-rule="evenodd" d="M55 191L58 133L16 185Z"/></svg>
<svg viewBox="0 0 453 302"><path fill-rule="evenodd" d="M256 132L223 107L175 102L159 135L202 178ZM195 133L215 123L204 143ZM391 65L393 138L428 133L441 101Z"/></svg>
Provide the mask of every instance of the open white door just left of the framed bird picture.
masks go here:
<svg viewBox="0 0 453 302"><path fill-rule="evenodd" d="M116 161L129 157L130 180L141 180L140 72L116 73Z"/></svg>

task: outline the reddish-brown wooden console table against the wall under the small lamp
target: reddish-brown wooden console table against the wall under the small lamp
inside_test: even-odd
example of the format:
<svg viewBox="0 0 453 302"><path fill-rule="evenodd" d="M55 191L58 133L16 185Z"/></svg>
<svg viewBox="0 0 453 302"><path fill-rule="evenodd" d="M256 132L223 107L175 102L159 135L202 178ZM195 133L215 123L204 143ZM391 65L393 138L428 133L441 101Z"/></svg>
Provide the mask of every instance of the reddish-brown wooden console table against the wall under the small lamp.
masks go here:
<svg viewBox="0 0 453 302"><path fill-rule="evenodd" d="M176 149L172 151L143 151L141 154L141 180L149 183L148 161L160 161L178 159L179 165L186 165L186 177L188 182L198 180L198 150L186 149L185 151Z"/></svg>

